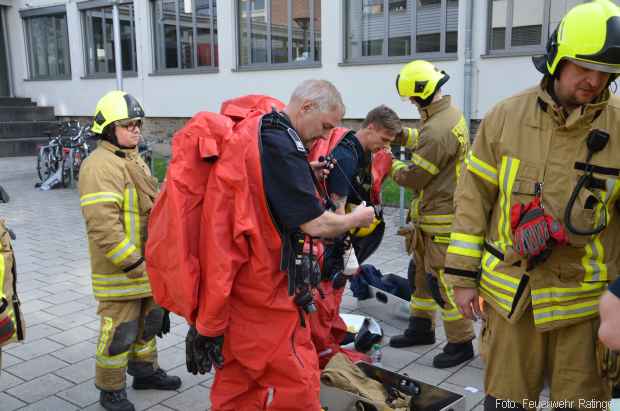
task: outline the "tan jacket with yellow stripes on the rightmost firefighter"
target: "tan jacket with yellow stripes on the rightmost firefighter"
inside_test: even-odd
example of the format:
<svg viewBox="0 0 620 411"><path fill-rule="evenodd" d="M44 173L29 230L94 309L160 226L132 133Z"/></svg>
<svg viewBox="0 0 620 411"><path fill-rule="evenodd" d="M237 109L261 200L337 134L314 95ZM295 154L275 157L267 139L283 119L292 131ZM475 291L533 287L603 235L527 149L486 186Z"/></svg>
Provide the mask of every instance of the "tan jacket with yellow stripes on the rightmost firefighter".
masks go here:
<svg viewBox="0 0 620 411"><path fill-rule="evenodd" d="M536 326L553 329L597 316L598 299L616 275L620 141L614 136L620 100L605 91L597 102L566 115L545 89L543 82L504 100L482 122L455 195L446 272L453 286L479 287L507 320L517 321L531 302ZM510 209L530 202L544 183L545 212L564 224L592 129L611 138L592 157L596 184L579 193L572 221L594 228L604 206L608 226L594 236L569 233L568 246L555 247L546 262L525 273L525 262L512 247ZM593 201L596 197L604 205Z"/></svg>

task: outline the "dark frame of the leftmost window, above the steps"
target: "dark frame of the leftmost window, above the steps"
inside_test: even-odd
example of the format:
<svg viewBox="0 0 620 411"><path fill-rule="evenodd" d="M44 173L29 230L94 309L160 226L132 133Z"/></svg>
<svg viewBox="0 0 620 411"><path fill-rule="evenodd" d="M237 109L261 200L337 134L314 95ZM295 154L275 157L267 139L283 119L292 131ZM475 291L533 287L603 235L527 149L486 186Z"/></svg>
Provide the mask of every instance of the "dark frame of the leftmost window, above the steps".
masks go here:
<svg viewBox="0 0 620 411"><path fill-rule="evenodd" d="M22 20L23 31L24 31L24 40L26 43L26 65L28 68L28 78L26 81L56 81L56 80L71 80L71 49L69 47L69 27L67 21L67 9L65 5L58 6L50 6L50 7L39 7L36 9L28 9L28 10L20 10L20 17ZM65 23L63 25L62 35L64 37L64 47L65 53L63 57L63 62L66 67L66 72L64 75L54 75L54 76L40 76L34 75L34 55L33 55L33 47L32 47L32 29L31 29L31 20L33 18L41 18L41 17L58 17L64 16ZM57 32L55 32L55 35ZM46 43L48 41L47 32L45 33ZM49 64L48 64L49 66ZM49 68L48 68L49 72Z"/></svg>

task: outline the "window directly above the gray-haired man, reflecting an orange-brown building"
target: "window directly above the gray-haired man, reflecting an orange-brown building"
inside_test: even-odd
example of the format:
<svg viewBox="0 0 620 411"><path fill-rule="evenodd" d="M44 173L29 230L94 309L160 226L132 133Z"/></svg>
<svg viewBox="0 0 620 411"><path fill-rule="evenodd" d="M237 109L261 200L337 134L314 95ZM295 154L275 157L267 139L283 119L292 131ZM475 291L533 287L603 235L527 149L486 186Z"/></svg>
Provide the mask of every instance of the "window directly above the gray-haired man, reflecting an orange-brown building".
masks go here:
<svg viewBox="0 0 620 411"><path fill-rule="evenodd" d="M239 66L321 61L320 0L238 0Z"/></svg>

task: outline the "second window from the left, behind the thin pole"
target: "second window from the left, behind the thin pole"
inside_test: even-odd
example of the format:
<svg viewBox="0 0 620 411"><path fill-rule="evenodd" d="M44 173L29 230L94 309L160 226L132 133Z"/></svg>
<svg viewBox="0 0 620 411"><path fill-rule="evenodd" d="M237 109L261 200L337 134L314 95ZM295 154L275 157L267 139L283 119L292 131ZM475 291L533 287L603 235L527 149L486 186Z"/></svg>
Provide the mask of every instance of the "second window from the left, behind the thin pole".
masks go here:
<svg viewBox="0 0 620 411"><path fill-rule="evenodd" d="M107 76L116 73L114 24L112 6L93 7L101 2L79 3L84 32L84 55L88 76ZM134 6L121 2L118 6L121 32L121 64L124 73L138 71L136 61L136 31Z"/></svg>

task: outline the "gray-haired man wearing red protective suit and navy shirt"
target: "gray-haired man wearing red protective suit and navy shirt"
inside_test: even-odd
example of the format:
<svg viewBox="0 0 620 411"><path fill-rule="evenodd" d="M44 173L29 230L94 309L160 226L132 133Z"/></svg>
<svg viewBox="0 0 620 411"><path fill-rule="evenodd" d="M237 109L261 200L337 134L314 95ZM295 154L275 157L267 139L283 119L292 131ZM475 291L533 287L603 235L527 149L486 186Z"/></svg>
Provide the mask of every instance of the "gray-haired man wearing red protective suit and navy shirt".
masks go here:
<svg viewBox="0 0 620 411"><path fill-rule="evenodd" d="M308 324L316 309L312 237L368 226L374 216L364 205L346 215L325 211L316 195L306 147L341 121L338 90L307 80L280 107L238 122L209 174L206 291L186 349L190 372L217 369L214 411L321 409Z"/></svg>

